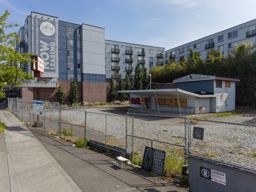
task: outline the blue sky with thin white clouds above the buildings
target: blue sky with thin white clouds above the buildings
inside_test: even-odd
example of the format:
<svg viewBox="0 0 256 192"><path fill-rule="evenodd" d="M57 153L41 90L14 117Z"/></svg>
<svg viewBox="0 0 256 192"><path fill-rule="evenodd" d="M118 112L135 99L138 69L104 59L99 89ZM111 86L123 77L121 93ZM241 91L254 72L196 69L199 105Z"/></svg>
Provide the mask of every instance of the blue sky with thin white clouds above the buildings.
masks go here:
<svg viewBox="0 0 256 192"><path fill-rule="evenodd" d="M20 26L31 11L105 28L105 39L176 46L256 18L256 0L0 0L0 15Z"/></svg>

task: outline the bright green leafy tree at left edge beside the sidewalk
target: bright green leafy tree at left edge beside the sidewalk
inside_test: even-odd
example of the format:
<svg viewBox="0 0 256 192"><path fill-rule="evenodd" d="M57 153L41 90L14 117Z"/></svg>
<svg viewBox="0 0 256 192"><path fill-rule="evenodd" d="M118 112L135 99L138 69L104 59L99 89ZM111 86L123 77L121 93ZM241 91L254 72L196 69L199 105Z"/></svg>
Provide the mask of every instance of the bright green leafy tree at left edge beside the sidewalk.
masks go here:
<svg viewBox="0 0 256 192"><path fill-rule="evenodd" d="M12 23L7 24L6 20L9 15L9 11L6 10L0 17L0 97L5 97L5 87L9 87L11 84L15 85L15 87L22 85L22 83L16 81L17 78L33 78L30 73L24 72L21 68L17 68L18 63L25 64L26 62L30 62L31 60L28 58L33 54L24 53L20 55L20 53L16 52L13 48L15 47L15 39L18 42L20 41L18 39L19 35L17 32L6 34L4 30L19 25Z"/></svg>

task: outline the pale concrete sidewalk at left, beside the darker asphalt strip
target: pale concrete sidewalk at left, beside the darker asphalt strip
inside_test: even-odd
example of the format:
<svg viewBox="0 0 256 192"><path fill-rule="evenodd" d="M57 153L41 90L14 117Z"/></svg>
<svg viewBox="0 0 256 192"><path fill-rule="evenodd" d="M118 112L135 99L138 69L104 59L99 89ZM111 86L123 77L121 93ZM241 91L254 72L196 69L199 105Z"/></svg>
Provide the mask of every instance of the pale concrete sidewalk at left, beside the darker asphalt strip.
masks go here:
<svg viewBox="0 0 256 192"><path fill-rule="evenodd" d="M0 103L0 186L3 192L81 191L45 147Z"/></svg>

